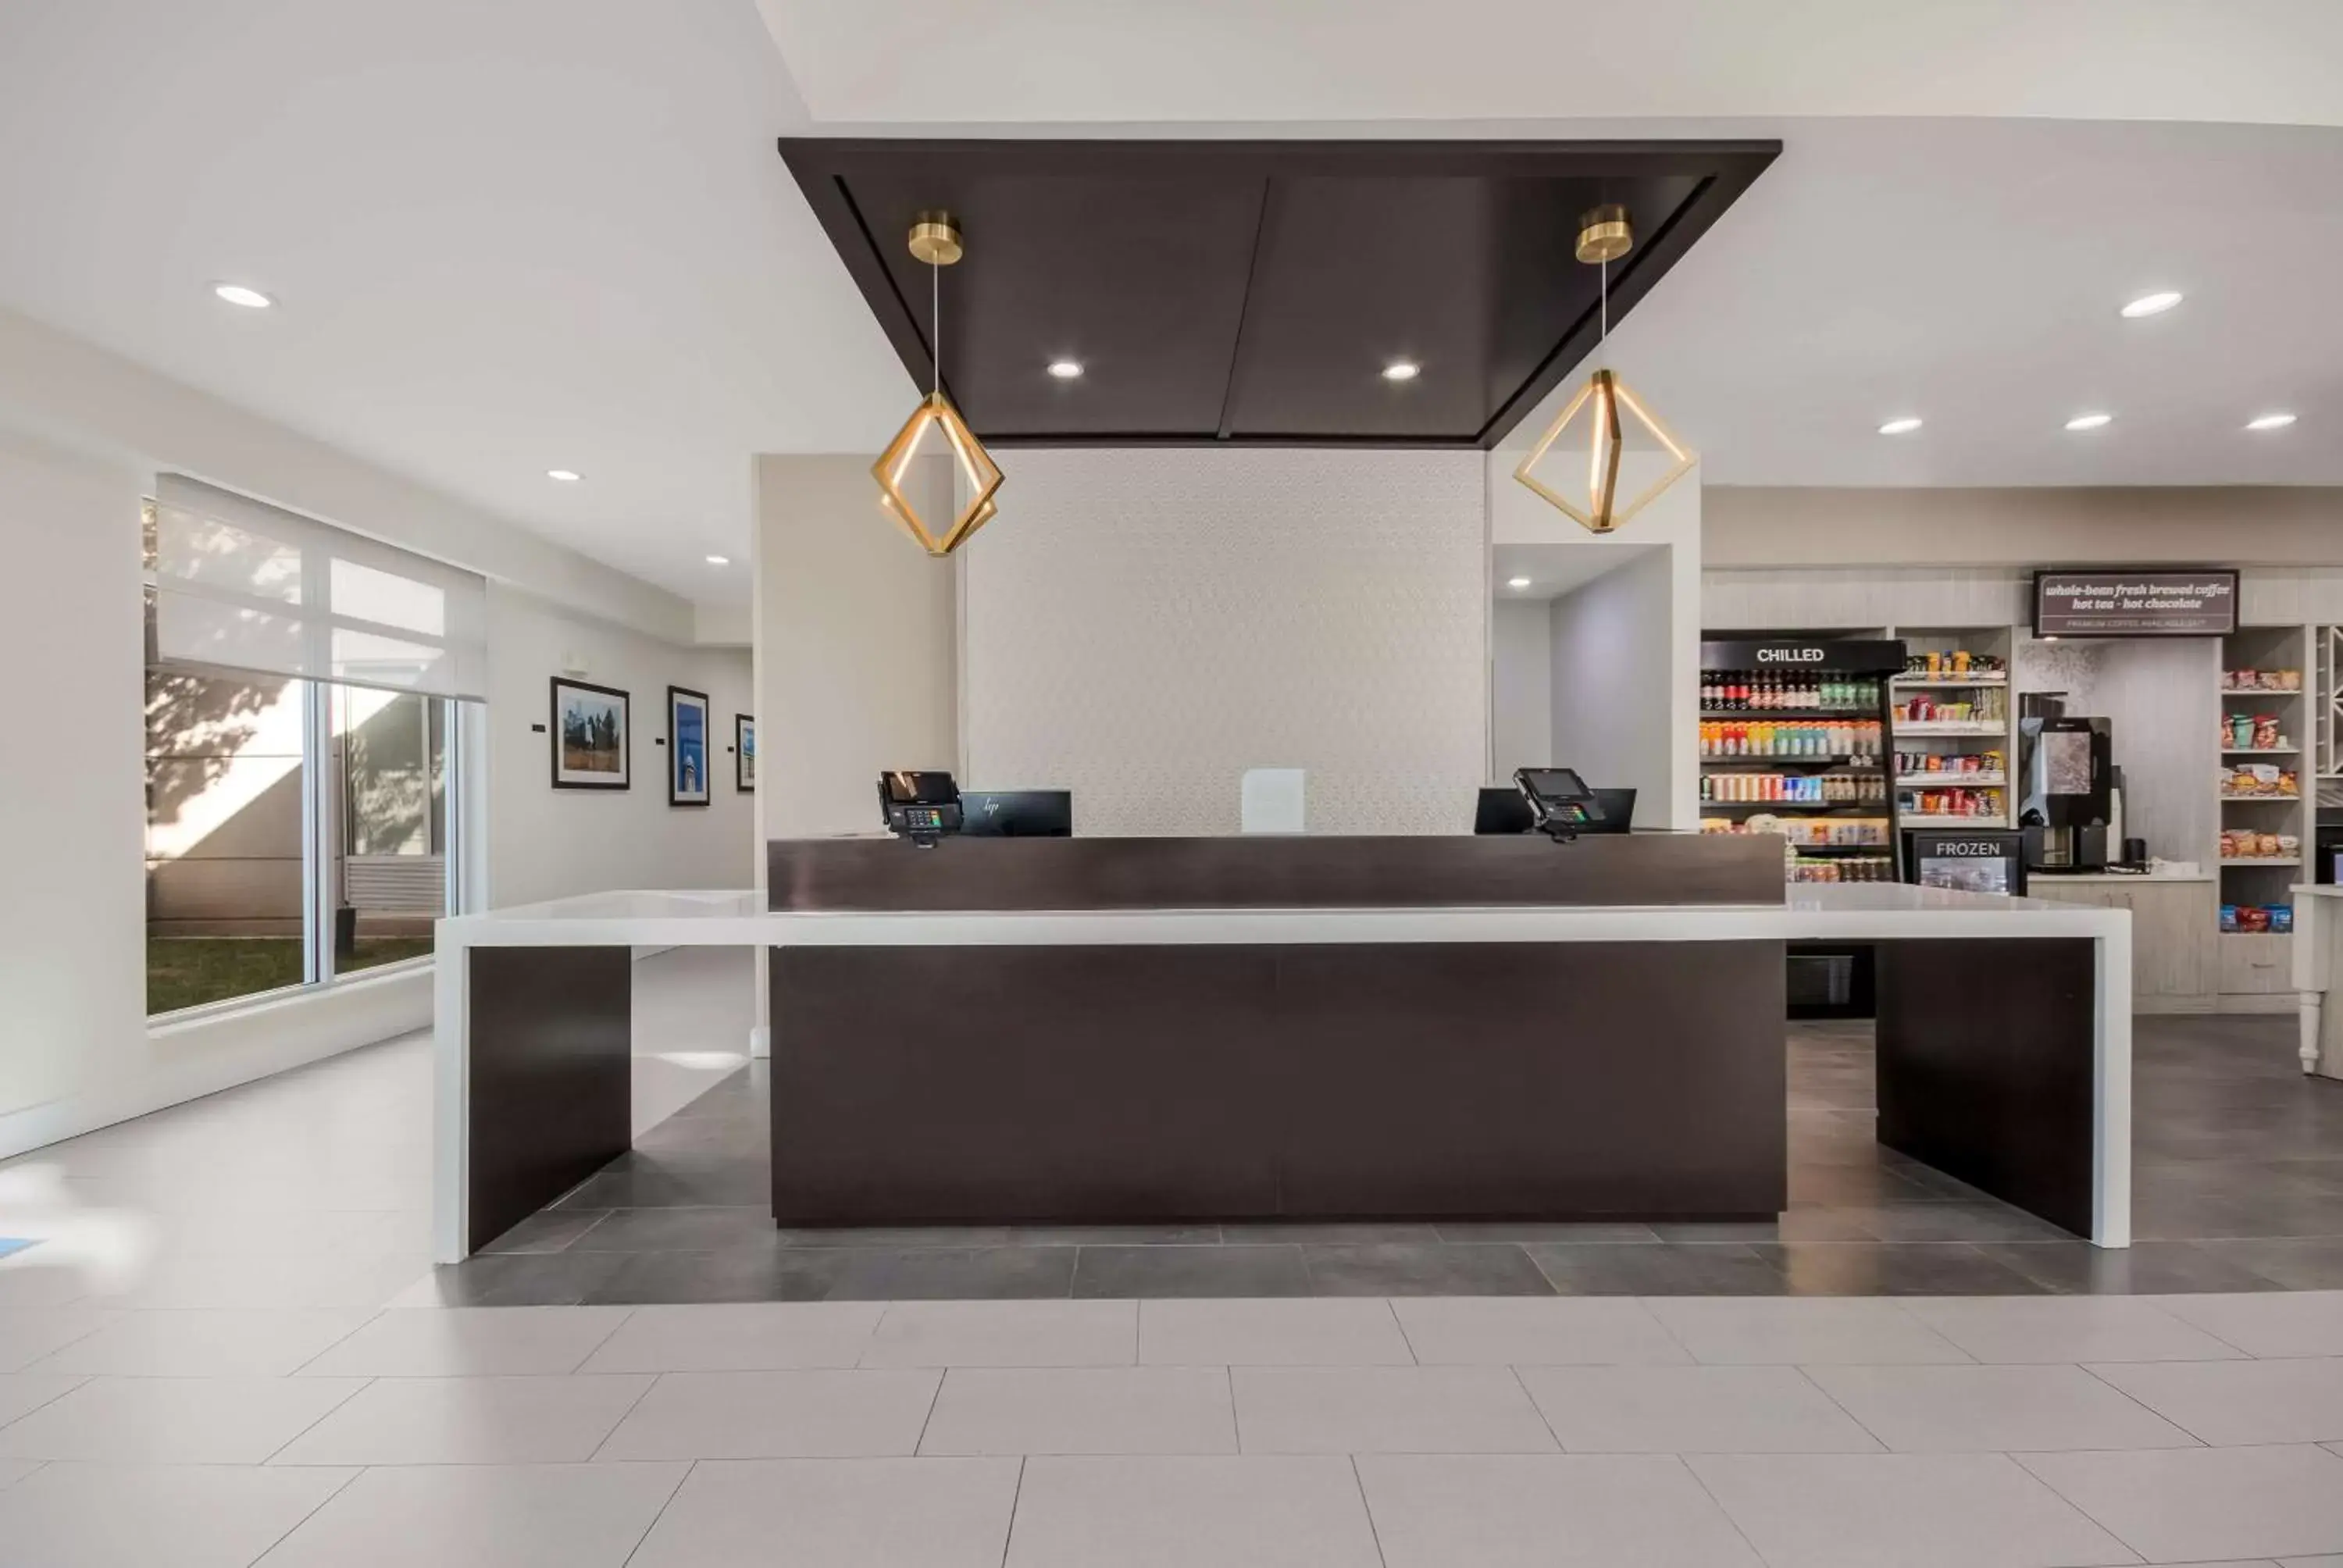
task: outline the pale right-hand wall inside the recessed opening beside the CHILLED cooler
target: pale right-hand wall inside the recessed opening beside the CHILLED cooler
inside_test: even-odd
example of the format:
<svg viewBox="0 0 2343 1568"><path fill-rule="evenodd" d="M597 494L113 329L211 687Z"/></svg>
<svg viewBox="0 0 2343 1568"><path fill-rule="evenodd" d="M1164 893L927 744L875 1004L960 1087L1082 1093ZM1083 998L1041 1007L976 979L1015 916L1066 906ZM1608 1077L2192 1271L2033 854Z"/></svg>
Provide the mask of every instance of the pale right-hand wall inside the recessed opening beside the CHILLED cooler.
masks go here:
<svg viewBox="0 0 2343 1568"><path fill-rule="evenodd" d="M1689 827L1675 818L1675 710L1649 689L1671 666L1673 598L1675 563L1652 548L1553 600L1553 762L1635 790L1640 827Z"/></svg>

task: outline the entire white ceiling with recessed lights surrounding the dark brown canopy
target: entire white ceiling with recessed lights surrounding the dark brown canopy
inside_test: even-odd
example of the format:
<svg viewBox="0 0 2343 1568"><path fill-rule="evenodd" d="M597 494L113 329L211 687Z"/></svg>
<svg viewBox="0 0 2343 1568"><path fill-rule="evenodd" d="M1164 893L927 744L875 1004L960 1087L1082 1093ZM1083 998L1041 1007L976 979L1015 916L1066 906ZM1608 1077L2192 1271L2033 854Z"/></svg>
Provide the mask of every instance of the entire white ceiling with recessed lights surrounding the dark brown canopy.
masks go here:
<svg viewBox="0 0 2343 1568"><path fill-rule="evenodd" d="M914 396L780 136L1778 136L1612 347L1708 483L2343 483L2327 0L757 9L5 0L0 307L722 605L747 457Z"/></svg>

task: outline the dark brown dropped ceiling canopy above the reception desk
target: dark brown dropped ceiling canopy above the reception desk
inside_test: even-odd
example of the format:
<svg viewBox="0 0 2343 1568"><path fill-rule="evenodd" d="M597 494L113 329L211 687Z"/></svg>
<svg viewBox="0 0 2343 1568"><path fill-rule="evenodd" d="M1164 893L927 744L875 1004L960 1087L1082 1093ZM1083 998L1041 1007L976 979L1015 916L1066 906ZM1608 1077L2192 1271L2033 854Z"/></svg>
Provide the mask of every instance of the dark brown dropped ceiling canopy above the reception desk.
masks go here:
<svg viewBox="0 0 2343 1568"><path fill-rule="evenodd" d="M1600 335L1584 213L1638 225L1619 321L1778 150L780 143L904 370L933 375L940 319L944 387L993 445L1495 445ZM935 211L968 234L944 272L907 246Z"/></svg>

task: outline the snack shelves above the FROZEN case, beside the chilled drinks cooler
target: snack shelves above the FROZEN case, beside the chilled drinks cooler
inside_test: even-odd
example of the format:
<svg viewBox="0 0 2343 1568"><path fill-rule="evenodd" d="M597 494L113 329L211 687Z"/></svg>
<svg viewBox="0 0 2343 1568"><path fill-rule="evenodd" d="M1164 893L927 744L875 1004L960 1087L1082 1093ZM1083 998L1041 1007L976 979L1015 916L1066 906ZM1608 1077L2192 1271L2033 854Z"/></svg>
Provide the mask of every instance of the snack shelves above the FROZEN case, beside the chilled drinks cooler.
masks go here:
<svg viewBox="0 0 2343 1568"><path fill-rule="evenodd" d="M1898 626L1895 635L1914 666L1891 682L1898 825L2013 827L2013 628Z"/></svg>

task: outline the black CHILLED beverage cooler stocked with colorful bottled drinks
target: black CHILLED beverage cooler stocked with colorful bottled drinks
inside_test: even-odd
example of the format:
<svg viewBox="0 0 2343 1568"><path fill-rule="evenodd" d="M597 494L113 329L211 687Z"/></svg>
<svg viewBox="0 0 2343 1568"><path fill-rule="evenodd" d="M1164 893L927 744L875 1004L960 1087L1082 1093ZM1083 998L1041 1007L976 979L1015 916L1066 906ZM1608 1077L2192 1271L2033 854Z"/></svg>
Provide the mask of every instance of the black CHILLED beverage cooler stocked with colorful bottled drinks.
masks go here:
<svg viewBox="0 0 2343 1568"><path fill-rule="evenodd" d="M1893 640L1701 642L1701 832L1778 834L1790 881L1903 881L1891 771L1903 673ZM1870 1013L1867 947L1790 947L1790 1017Z"/></svg>

